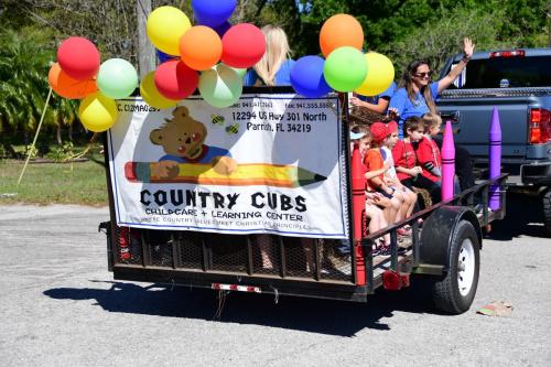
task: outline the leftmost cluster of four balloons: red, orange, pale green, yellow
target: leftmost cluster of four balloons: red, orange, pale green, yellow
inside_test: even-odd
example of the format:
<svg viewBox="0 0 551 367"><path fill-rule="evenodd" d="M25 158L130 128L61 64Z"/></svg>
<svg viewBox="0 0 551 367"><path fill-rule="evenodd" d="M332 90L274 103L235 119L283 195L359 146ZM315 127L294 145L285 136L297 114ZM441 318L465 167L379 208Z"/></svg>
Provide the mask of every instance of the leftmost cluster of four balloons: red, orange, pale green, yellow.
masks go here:
<svg viewBox="0 0 551 367"><path fill-rule="evenodd" d="M100 65L94 43L73 36L57 48L57 63L50 68L48 82L60 96L82 99L80 122L88 130L100 132L117 120L115 99L132 94L138 86L138 73L122 58L110 58Z"/></svg>

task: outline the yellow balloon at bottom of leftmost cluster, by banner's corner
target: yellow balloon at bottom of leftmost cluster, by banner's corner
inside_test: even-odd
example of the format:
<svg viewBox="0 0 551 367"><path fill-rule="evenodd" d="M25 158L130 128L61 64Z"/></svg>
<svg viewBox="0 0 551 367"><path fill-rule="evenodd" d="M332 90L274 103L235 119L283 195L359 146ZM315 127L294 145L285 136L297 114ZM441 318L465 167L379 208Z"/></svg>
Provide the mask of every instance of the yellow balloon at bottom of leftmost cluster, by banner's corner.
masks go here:
<svg viewBox="0 0 551 367"><path fill-rule="evenodd" d="M78 117L84 127L94 132L101 132L114 126L119 111L114 99L96 91L86 96L78 107Z"/></svg>

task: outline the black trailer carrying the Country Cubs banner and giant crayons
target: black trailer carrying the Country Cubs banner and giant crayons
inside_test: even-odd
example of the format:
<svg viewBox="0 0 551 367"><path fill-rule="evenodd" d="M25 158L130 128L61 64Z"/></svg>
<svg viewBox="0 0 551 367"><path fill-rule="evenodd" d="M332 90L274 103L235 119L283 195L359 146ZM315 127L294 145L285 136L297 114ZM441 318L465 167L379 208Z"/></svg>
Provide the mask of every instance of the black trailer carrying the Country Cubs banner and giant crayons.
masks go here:
<svg viewBox="0 0 551 367"><path fill-rule="evenodd" d="M367 302L421 274L437 310L468 310L482 228L505 216L506 175L368 234L343 105L283 87L246 88L225 109L197 96L163 110L118 100L104 133L110 220L100 224L114 278ZM407 225L412 235L399 237ZM376 245L387 234L385 252Z"/></svg>

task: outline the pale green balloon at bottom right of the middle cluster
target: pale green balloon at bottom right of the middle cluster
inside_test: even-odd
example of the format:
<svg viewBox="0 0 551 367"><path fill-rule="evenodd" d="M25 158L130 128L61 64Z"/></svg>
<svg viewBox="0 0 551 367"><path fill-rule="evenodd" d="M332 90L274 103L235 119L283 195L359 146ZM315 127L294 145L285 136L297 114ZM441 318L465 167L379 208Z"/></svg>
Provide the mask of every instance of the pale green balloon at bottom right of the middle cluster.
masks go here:
<svg viewBox="0 0 551 367"><path fill-rule="evenodd" d="M199 93L210 106L226 108L234 105L242 91L242 77L224 64L201 73Z"/></svg>

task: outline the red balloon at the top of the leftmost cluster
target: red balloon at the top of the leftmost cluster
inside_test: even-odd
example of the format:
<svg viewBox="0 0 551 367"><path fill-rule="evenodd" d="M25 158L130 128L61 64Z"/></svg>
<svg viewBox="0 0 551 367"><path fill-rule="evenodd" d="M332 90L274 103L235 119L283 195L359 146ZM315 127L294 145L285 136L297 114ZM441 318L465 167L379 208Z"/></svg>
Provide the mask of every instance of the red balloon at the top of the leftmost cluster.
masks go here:
<svg viewBox="0 0 551 367"><path fill-rule="evenodd" d="M57 62L72 78L91 78L99 69L99 51L85 37L68 37L57 48Z"/></svg>

